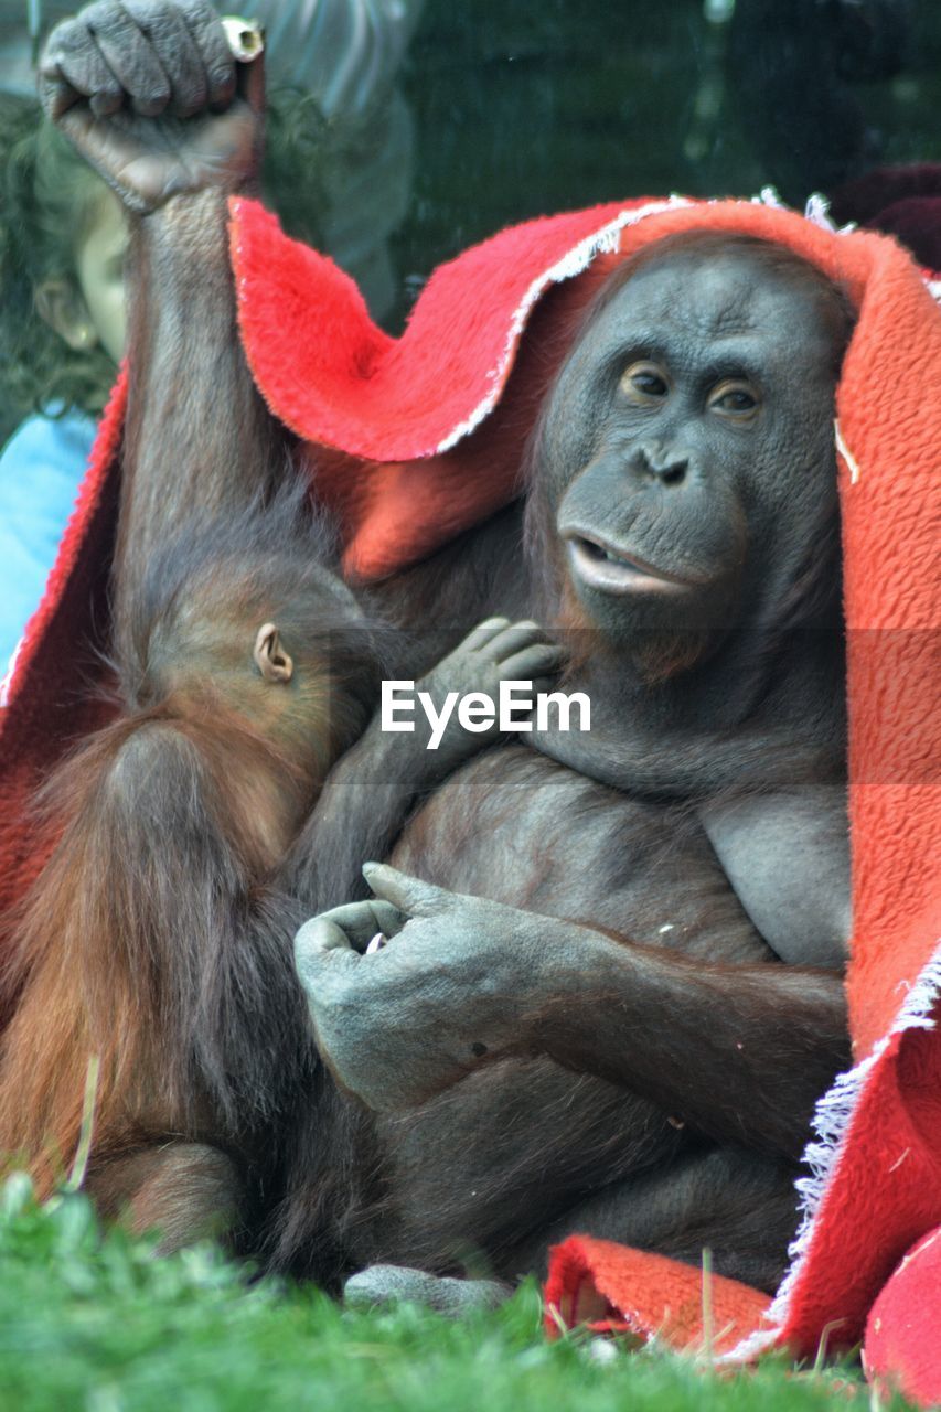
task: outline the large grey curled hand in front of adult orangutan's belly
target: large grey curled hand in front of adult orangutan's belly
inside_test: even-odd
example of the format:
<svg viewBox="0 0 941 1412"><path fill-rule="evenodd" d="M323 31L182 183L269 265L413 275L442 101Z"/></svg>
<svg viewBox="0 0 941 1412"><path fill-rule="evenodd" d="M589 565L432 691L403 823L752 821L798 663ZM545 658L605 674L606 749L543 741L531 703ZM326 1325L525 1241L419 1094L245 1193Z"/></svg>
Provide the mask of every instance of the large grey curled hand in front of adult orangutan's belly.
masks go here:
<svg viewBox="0 0 941 1412"><path fill-rule="evenodd" d="M335 1077L367 1107L394 1111L524 1049L554 986L558 950L550 967L545 935L581 928L386 866L363 873L377 899L305 922L294 955ZM365 955L377 933L389 945Z"/></svg>

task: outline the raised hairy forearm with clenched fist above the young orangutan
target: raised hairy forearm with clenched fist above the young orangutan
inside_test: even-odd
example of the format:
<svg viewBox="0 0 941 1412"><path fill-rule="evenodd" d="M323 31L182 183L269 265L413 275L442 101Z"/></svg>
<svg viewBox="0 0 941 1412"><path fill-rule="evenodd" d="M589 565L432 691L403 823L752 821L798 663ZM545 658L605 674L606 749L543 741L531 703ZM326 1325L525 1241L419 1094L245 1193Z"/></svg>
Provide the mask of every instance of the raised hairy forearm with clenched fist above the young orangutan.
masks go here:
<svg viewBox="0 0 941 1412"><path fill-rule="evenodd" d="M195 515L230 518L284 469L239 340L226 237L227 198L256 182L261 61L236 62L205 0L102 0L52 31L40 89L131 226L123 626L155 548Z"/></svg>

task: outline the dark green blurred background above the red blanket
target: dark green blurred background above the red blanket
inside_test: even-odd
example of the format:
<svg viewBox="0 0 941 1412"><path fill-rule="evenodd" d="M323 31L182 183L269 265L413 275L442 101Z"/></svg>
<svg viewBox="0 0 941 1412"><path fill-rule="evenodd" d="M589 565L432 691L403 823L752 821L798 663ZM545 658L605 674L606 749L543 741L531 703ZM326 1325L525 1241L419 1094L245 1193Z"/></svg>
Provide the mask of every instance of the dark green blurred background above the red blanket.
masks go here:
<svg viewBox="0 0 941 1412"><path fill-rule="evenodd" d="M44 31L72 8L32 4ZM268 0L267 8L271 23L297 7ZM390 243L397 287L383 315L391 325L435 263L527 216L766 185L801 205L873 167L941 158L938 0L401 0L401 8L410 16L397 88L413 136ZM0 0L7 88L31 83L28 10L27 0ZM281 80L283 69L281 58ZM297 64L287 80L302 83Z"/></svg>

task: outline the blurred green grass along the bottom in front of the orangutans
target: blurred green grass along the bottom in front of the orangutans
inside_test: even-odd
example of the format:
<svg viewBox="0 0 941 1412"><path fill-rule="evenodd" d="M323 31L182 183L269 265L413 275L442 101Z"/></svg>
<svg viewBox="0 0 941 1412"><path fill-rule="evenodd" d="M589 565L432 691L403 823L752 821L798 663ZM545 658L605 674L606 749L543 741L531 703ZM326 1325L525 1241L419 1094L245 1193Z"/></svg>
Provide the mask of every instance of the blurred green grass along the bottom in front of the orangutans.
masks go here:
<svg viewBox="0 0 941 1412"><path fill-rule="evenodd" d="M449 1323L352 1313L314 1289L250 1284L209 1245L155 1260L102 1233L82 1196L0 1189L3 1412L709 1412L870 1408L858 1370L766 1363L715 1377L664 1351L547 1343L538 1291ZM883 1406L889 1404L882 1404ZM901 1406L901 1404L893 1404Z"/></svg>

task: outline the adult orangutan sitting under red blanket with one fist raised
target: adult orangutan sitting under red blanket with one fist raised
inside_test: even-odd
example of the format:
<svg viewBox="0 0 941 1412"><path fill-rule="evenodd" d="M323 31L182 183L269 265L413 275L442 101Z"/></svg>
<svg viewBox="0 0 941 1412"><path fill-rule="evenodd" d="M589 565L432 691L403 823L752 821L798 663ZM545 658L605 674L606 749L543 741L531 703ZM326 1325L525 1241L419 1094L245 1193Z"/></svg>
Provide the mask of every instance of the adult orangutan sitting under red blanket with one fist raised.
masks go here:
<svg viewBox="0 0 941 1412"><path fill-rule="evenodd" d="M222 61L203 4L89 17L54 37L47 103L144 212L147 398L165 412L185 387L215 448L226 359L247 388L219 193L249 176L257 124L243 99L225 106L230 76L208 79ZM168 104L187 116L143 116ZM218 330L182 378L160 312L181 319L179 291L198 299L188 322ZM514 1275L582 1228L688 1258L711 1244L718 1269L773 1282L807 1118L846 1056L831 417L848 329L822 275L740 239L664 247L602 294L534 438L527 590L571 642L591 737L550 730L466 767L393 853L428 881L372 873L381 901L301 933L321 1053L396 1115L373 1127L322 1067L288 1070L273 1264L333 1282L379 1258L448 1272L483 1257ZM254 412L225 438L257 473L271 428L244 395ZM154 503L137 503L153 544ZM509 522L468 537L458 568ZM438 572L390 585L387 606L427 618ZM513 566L454 580L473 616L523 587ZM393 843L425 788L400 740L367 733L333 772L278 873L291 907L353 897ZM381 789L360 827L365 782ZM379 929L391 943L360 956ZM239 1043L277 1065L283 1031L253 1015ZM381 1185L363 1197L373 1132Z"/></svg>

